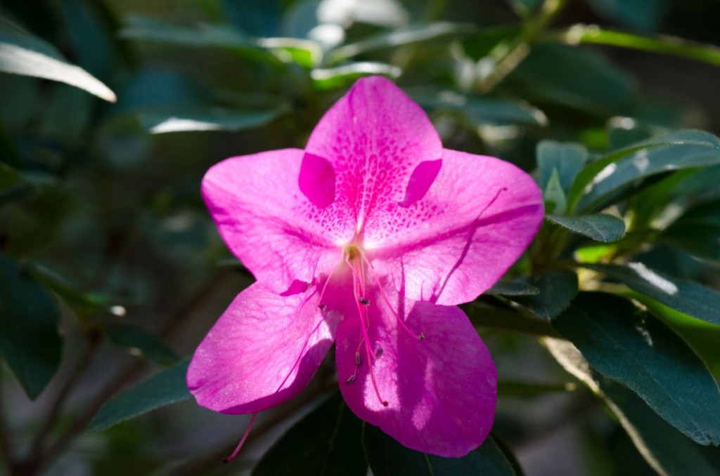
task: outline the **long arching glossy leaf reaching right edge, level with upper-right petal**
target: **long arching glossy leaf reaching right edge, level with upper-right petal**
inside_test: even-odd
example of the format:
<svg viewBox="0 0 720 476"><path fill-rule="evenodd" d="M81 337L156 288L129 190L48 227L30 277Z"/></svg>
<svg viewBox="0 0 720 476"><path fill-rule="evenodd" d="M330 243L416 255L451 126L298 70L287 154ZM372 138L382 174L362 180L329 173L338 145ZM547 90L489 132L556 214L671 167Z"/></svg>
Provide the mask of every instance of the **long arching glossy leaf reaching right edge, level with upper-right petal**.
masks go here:
<svg viewBox="0 0 720 476"><path fill-rule="evenodd" d="M680 131L612 152L588 165L570 189L570 209L600 206L612 193L657 173L720 164L720 139L707 132Z"/></svg>

